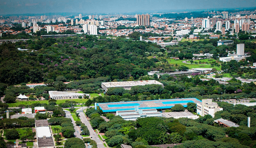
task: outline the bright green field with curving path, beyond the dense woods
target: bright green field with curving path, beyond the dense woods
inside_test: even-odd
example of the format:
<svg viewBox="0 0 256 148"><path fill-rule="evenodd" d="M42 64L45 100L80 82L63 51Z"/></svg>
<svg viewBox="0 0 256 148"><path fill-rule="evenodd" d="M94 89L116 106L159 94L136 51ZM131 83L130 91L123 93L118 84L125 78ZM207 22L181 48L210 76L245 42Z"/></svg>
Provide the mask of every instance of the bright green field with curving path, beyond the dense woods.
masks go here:
<svg viewBox="0 0 256 148"><path fill-rule="evenodd" d="M175 59L167 59L167 61L170 64L177 64L178 66L184 65L184 66L188 67L189 69L192 69L192 68L216 68L217 70L221 70L221 66L220 67L217 67L217 66L212 67L210 64L186 64L186 63L182 63L182 61L184 61L184 60L175 60ZM195 60L195 61L199 61L199 60ZM189 61L188 61L188 63L189 63Z"/></svg>

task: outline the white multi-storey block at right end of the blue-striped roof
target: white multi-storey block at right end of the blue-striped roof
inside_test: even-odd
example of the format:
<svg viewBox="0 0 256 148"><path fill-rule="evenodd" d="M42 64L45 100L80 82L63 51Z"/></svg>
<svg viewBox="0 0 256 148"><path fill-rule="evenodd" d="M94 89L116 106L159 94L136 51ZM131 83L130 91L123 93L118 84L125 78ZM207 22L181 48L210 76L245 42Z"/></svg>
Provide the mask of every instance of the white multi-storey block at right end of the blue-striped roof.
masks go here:
<svg viewBox="0 0 256 148"><path fill-rule="evenodd" d="M210 114L214 117L215 112L223 111L222 108L218 107L218 104L212 102L212 99L203 99L202 103L196 103L196 112L201 116Z"/></svg>

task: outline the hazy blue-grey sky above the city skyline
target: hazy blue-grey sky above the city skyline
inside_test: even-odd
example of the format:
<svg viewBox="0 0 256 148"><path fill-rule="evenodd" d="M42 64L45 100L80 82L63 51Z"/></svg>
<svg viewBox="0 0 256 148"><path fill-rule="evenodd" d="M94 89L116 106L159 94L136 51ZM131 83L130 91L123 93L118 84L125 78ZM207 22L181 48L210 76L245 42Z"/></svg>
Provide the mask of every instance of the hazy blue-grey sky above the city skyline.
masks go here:
<svg viewBox="0 0 256 148"><path fill-rule="evenodd" d="M126 13L159 10L255 7L256 0L0 0L0 14L48 12Z"/></svg>

